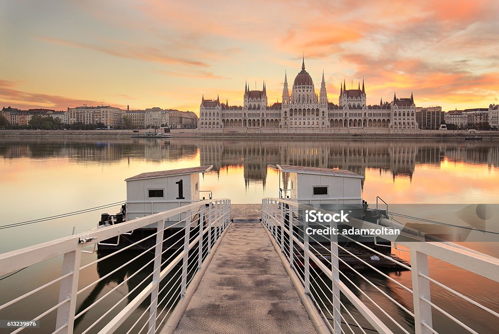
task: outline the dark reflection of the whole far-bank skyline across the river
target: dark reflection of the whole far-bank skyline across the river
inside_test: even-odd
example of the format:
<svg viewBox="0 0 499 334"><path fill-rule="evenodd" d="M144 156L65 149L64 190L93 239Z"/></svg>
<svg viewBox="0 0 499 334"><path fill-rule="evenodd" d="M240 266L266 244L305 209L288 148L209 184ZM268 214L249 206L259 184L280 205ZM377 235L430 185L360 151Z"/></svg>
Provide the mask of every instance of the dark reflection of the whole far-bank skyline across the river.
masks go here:
<svg viewBox="0 0 499 334"><path fill-rule="evenodd" d="M122 159L178 161L193 159L199 149L201 165L219 172L243 167L246 185L265 185L268 164L341 168L360 175L366 169L412 178L416 165L439 168L449 161L499 166L499 146L494 142L431 140L196 140L13 142L0 145L0 155L15 157L66 156L76 162L112 163Z"/></svg>

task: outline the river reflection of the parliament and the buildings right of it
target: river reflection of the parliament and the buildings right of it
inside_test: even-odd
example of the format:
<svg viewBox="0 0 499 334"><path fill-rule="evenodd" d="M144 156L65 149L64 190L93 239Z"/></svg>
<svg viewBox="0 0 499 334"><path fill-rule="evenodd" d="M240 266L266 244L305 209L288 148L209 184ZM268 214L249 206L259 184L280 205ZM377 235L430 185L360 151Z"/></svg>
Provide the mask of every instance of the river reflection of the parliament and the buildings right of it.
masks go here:
<svg viewBox="0 0 499 334"><path fill-rule="evenodd" d="M365 176L366 169L391 172L395 177L412 179L416 165L439 168L450 161L499 165L499 147L485 143L432 141L231 141L202 142L201 165L213 164L214 170L242 165L247 185L265 185L267 164L286 164L347 169Z"/></svg>

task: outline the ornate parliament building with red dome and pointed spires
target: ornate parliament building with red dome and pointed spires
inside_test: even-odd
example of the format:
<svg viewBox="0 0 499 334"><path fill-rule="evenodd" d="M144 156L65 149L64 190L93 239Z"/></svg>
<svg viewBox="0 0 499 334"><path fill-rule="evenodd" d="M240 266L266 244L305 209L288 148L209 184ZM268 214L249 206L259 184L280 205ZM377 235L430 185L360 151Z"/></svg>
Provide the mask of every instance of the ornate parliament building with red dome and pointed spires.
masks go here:
<svg viewBox="0 0 499 334"><path fill-rule="evenodd" d="M324 73L319 94L311 76L305 71L296 75L291 94L287 74L284 75L282 102L268 105L266 85L262 90L250 90L245 85L243 106L230 106L228 102L201 99L199 128L248 128L270 127L278 129L386 129L397 132L413 132L418 128L414 97L397 98L392 102L380 101L380 105L366 105L364 82L357 89L346 89L345 81L340 85L338 105L329 102Z"/></svg>

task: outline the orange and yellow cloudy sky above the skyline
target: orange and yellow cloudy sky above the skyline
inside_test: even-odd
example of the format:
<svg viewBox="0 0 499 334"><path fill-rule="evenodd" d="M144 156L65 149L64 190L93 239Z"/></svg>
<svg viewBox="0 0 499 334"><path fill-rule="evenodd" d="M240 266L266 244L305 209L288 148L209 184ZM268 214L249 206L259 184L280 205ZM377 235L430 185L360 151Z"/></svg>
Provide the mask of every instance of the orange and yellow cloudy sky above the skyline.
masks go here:
<svg viewBox="0 0 499 334"><path fill-rule="evenodd" d="M368 104L498 103L499 1L0 0L0 108L86 103L199 113L201 96L269 103L301 69L330 102L364 78Z"/></svg>

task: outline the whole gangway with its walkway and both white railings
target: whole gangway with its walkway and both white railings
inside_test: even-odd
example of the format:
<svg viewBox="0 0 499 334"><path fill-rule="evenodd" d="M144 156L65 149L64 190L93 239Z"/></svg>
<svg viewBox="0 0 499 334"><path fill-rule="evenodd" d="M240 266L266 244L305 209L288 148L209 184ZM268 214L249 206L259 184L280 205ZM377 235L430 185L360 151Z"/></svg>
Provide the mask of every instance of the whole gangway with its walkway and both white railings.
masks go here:
<svg viewBox="0 0 499 334"><path fill-rule="evenodd" d="M481 321L489 319L497 323L497 308L484 306L454 290L449 282L437 281L428 265L428 259L435 258L497 284L497 258L453 243L421 242L405 235L397 239L398 246L410 254L410 266L397 264L411 272L411 282L404 284L357 257L335 242L334 237L325 245L304 234L306 208L295 201L265 198L260 223L237 225L231 221L229 199L210 199L1 254L2 277L23 268L43 266L48 261L58 261L59 270L44 273L46 283L27 284L20 295L2 291L0 319L15 318L30 307L36 310L33 303L45 307L50 302L39 314L30 315L30 320L41 321L42 331L38 333L194 333L186 325L186 320L193 317L198 324L205 322L211 326L196 333L286 333L279 328L286 322L296 330L289 333L443 334L449 333L451 325L479 333L471 316L457 318L447 305L432 299L430 287L438 286L452 296L453 303L482 312ZM185 217L179 222L183 228L168 238L176 238L182 247L163 249L165 230L173 227L165 226L165 221L181 214ZM156 224L157 231L146 238L154 238L155 245L134 254L130 260L121 257L127 248L107 255L94 253L95 243L151 224ZM345 224L359 228L371 223L352 218ZM377 224L367 226L381 228ZM261 244L252 247L252 242ZM387 261L397 261L355 240L351 243ZM317 252L317 247L323 250ZM387 293L387 287L371 282L364 272L343 263L338 256L340 250L357 257L360 263L383 277L387 285L396 287L398 293ZM324 252L329 254L327 259L318 255ZM97 284L142 257L146 260L140 269L128 272L91 304L82 305ZM92 268L106 261L116 268L102 276L88 275ZM340 264L350 268L345 271ZM274 281L263 279L263 275L273 275ZM9 279L13 278L15 275ZM136 283L131 284L133 281ZM126 286L129 291L125 293ZM380 303L365 287L383 296L385 302ZM250 297L248 302L240 303L239 308L231 306L231 302L235 305L247 297ZM111 304L106 302L108 299ZM204 305L204 312L197 311L200 301L208 304ZM256 310L261 316L251 318L249 315ZM406 322L397 322L394 313L403 314ZM435 313L447 319L445 327L433 321ZM290 317L298 321L291 322ZM246 326L243 330L233 324L235 318L247 320L242 321L242 326ZM84 322L86 325L82 325ZM27 329L10 330L19 333Z"/></svg>

